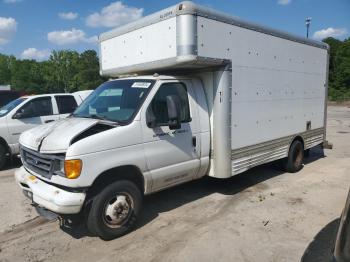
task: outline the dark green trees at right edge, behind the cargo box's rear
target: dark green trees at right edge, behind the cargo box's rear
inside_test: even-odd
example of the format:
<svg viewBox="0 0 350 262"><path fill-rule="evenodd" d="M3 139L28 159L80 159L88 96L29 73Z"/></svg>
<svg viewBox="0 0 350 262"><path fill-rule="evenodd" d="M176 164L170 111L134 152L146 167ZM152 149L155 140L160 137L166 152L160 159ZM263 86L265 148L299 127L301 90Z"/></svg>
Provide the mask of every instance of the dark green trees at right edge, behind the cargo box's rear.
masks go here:
<svg viewBox="0 0 350 262"><path fill-rule="evenodd" d="M340 41L332 37L323 42L330 46L329 91L331 100L350 99L350 38Z"/></svg>

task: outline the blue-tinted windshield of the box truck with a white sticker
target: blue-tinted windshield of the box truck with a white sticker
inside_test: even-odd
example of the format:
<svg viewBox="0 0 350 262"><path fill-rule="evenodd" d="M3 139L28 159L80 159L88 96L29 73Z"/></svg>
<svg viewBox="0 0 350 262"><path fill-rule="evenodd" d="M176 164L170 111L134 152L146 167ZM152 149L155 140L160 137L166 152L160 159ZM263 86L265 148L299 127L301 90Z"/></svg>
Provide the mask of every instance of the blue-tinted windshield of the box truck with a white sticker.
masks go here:
<svg viewBox="0 0 350 262"><path fill-rule="evenodd" d="M129 122L139 110L154 80L116 80L97 88L74 112L74 117Z"/></svg>

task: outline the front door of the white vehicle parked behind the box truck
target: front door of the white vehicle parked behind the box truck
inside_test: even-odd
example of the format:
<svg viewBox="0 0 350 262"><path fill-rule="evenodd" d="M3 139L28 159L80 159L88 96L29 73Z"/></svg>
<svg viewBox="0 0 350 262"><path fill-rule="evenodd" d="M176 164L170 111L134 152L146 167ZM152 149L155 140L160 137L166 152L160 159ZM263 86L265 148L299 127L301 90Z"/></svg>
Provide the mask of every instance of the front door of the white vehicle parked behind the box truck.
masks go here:
<svg viewBox="0 0 350 262"><path fill-rule="evenodd" d="M19 118L16 115L20 113ZM9 118L8 128L12 144L18 144L20 135L35 126L58 120L54 114L50 96L34 98L27 101L12 118ZM16 152L17 153L17 152Z"/></svg>

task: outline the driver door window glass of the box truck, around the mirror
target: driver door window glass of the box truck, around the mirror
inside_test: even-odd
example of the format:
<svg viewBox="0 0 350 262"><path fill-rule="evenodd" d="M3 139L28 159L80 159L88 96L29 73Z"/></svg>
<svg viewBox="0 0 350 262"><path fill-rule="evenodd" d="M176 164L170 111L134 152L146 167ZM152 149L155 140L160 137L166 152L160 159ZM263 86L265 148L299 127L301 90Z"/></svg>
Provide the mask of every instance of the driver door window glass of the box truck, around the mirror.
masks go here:
<svg viewBox="0 0 350 262"><path fill-rule="evenodd" d="M156 125L167 126L169 124L166 97L170 95L177 95L180 98L181 122L191 122L186 86L183 83L166 83L159 88L150 105L150 110L156 119Z"/></svg>

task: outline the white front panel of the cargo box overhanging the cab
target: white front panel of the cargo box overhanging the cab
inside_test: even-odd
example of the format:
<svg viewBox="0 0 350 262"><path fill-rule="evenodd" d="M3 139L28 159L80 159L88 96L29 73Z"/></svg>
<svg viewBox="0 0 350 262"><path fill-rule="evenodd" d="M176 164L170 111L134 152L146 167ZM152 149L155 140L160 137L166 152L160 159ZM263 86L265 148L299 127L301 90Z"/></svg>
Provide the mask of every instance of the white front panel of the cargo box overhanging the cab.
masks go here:
<svg viewBox="0 0 350 262"><path fill-rule="evenodd" d="M176 17L107 39L101 45L101 72L176 57Z"/></svg>

